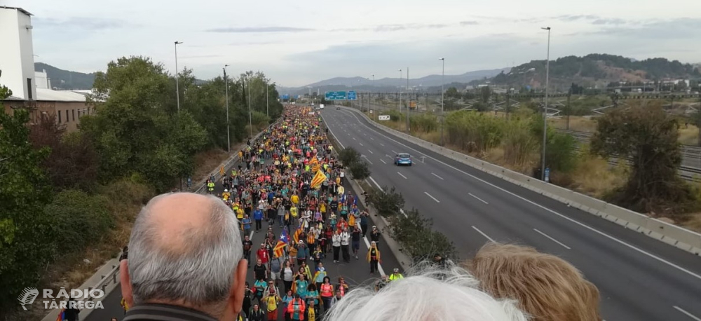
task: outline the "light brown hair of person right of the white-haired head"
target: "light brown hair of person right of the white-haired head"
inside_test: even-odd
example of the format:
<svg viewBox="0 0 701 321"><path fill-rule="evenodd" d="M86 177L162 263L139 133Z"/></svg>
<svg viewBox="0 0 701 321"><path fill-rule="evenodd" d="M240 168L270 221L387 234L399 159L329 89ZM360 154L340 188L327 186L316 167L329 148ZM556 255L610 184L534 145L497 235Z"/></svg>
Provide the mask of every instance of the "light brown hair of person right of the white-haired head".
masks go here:
<svg viewBox="0 0 701 321"><path fill-rule="evenodd" d="M489 243L465 262L481 287L510 298L534 321L592 321L599 315L599 289L567 261L533 247Z"/></svg>

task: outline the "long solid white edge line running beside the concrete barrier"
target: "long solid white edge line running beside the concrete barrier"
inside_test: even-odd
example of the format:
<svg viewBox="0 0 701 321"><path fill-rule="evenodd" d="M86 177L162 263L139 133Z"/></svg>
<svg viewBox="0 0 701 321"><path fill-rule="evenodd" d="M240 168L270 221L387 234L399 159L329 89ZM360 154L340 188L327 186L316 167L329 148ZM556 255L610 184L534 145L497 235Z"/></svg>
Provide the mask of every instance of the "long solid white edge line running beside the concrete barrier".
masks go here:
<svg viewBox="0 0 701 321"><path fill-rule="evenodd" d="M353 116L355 116L355 115L353 115ZM381 132L379 132L379 131L377 131L377 130L374 130L374 129L370 128L370 126L365 125L365 123L362 123L362 122L360 121L360 118L358 118L358 116L355 116L355 119L357 119L359 123L361 123L362 125L364 125L364 126L365 126L366 128L368 128L369 130L372 130L372 131L378 133L379 135L384 136L384 137L386 137L387 139L389 139L389 140L391 140L391 141L393 141L393 142L395 142L395 143L397 143L397 144L400 144L400 145L402 145L402 146L404 146L404 147L407 147L407 149L411 149L412 151L416 151L417 153L421 153L420 151L417 151L416 149L413 149L413 148L407 146L406 144L402 144L401 142L397 142L397 140L395 140L395 139L393 139L393 138L391 138L391 137L388 137L387 135L384 135L383 133L381 133ZM486 182L484 179L481 179L481 178L479 178L479 177L476 177L475 175L472 175L472 174L470 174L470 173L468 173L468 172L465 172L464 170L461 170L461 169L459 169L459 168L456 168L455 166L452 166L452 165L449 165L449 164L447 164L447 163L444 163L443 161L440 161L440 160L438 160L438 159L436 159L436 158L434 158L434 157L432 157L432 156L426 156L426 157L428 157L428 158L430 158L430 159L433 159L433 161L436 161L437 163L440 163L440 164L442 164L442 165L445 165L445 166L448 167L448 168L452 168L453 170L456 170L456 171L461 172L461 173L463 173L463 174L465 174L465 175L468 175L469 177L472 177L473 179L476 179L478 182L482 182L482 183L484 183L484 184L487 184L487 185L489 185L489 186L492 186L492 187L494 187L495 189L498 189L498 190L500 190L500 191L503 191L504 193L509 194L510 196L514 196L515 198L519 198L520 200L524 200L525 202L530 203L531 205L535 205L535 206L537 206L537 207L540 207L541 209L546 210L547 212L551 212L552 214L555 214L555 215L557 215L557 216L559 216L559 217L562 217L563 219L566 219L566 220L568 220L568 221L571 221L571 222L574 223L574 224L577 224L577 225L582 226L583 228L586 228L586 229L588 229L588 230L590 230L590 231L592 231L592 232L594 232L594 233L597 233L597 234L599 234L599 235L601 235L601 236L604 236L604 238L608 238L609 240L613 240L615 243L618 243L618 244L620 244L620 245L623 245L623 246L625 246L625 247L628 247L628 248L631 249L631 250L637 251L637 252L639 252L639 253L641 253L641 254L644 254L644 255L646 255L646 256L648 256L648 257L651 257L652 259L658 260L658 261L660 261L660 262L662 262L662 263L664 263L664 264L667 264L668 266L672 266L672 268L676 268L677 270L682 271L683 273L686 273L686 274L688 274L688 275L693 276L694 278L697 278L697 279L701 280L701 275L698 275L698 274L696 274L696 273L693 273L692 271L689 271L689 270L687 270L686 268L683 268L683 267L681 267L681 266L679 266L679 265L676 265L676 264L674 264L674 263L672 263L672 262L670 262L670 261L667 261L667 260L665 260L665 259L662 259L661 257L658 257L658 256L655 255L655 254L652 254L652 253L650 253L650 252L646 252L645 250L641 250L639 247L636 247L635 245L631 245L631 244L626 243L626 242L624 242L624 241L622 241L622 240L619 240L618 238L614 238L613 236L608 235L608 234L606 234L606 233L604 233L604 232L601 232L601 231L597 230L596 228L593 228L592 226L588 226L587 224L583 224L583 223L581 223L580 221L576 221L575 219L571 219L570 217L566 217L564 214L560 214L559 212L555 212L554 210L550 210L550 208L545 207L545 206L543 206L543 205L540 205L540 204L538 204L538 203L536 203L536 202L533 202L532 200L529 200L529 199L527 199L527 198L524 198L523 196L519 196L519 195L517 195L517 194L515 194L515 193L512 193L512 192L510 192L510 191L507 191L507 190L505 190L505 189L503 189L503 188L501 188L501 187L499 187L499 186L496 186L496 185L494 185L494 184L491 184L490 182ZM467 166L467 165L466 165L466 166Z"/></svg>

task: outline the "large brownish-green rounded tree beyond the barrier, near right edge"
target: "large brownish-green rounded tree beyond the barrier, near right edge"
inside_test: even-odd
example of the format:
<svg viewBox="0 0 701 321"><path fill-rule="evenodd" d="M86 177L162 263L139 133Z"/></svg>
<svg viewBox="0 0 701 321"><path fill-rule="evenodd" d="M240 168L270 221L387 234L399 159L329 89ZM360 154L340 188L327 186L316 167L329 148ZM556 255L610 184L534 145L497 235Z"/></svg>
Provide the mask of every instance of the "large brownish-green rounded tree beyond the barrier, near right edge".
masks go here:
<svg viewBox="0 0 701 321"><path fill-rule="evenodd" d="M629 159L627 183L611 198L638 211L679 214L698 207L677 176L681 164L676 119L658 106L616 109L597 120L592 153Z"/></svg>

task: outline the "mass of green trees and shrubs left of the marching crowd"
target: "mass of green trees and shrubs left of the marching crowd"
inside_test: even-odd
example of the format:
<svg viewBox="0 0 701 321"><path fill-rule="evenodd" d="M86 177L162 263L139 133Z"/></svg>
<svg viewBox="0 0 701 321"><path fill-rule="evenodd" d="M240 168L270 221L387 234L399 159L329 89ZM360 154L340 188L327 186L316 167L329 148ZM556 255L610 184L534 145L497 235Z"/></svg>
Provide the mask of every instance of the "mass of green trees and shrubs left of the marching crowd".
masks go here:
<svg viewBox="0 0 701 321"><path fill-rule="evenodd" d="M229 79L232 154L283 111L268 85L266 115L271 82L264 74L242 76L245 87L241 78ZM26 110L0 113L1 319L40 319L14 315L24 287L81 285L126 245L149 198L179 188L186 177L195 188L231 156L224 86L221 77L196 85L185 69L178 111L175 78L162 64L122 57L95 77L89 97L95 112L81 116L77 132L64 132L50 115L27 125ZM259 94L247 97L248 86ZM0 86L0 98L9 95Z"/></svg>

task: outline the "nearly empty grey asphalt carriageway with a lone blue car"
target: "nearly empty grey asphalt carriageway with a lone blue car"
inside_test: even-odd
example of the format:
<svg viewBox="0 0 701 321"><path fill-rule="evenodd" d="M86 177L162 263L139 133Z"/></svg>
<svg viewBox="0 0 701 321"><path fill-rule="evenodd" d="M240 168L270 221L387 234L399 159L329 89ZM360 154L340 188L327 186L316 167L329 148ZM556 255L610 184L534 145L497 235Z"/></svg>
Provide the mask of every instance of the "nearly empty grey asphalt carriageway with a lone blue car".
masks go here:
<svg viewBox="0 0 701 321"><path fill-rule="evenodd" d="M469 259L490 240L574 264L601 292L608 321L700 321L701 258L470 168L369 125L357 111L322 111L336 139L369 162L375 186L395 186ZM411 167L393 165L407 152Z"/></svg>

